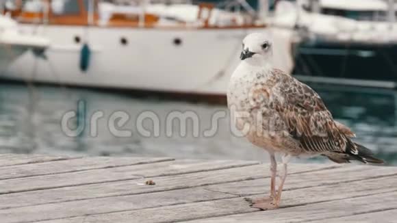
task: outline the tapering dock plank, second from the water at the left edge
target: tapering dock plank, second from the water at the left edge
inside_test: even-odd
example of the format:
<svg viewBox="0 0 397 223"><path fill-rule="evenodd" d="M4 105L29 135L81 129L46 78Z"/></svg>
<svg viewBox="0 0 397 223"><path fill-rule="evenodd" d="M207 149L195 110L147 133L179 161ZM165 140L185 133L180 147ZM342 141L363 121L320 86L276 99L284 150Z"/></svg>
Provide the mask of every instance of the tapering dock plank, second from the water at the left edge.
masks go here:
<svg viewBox="0 0 397 223"><path fill-rule="evenodd" d="M155 157L84 157L84 159L30 163L22 166L0 167L0 180L27 176L43 176L67 172L79 172L83 170L114 168L119 166L132 166L172 160L175 159Z"/></svg>

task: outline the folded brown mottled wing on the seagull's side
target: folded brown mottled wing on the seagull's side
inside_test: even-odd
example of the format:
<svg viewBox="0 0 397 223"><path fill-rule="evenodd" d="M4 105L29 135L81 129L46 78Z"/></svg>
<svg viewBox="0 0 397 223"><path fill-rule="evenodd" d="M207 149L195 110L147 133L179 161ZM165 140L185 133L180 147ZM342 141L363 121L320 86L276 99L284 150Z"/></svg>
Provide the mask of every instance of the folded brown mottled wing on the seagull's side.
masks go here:
<svg viewBox="0 0 397 223"><path fill-rule="evenodd" d="M281 72L274 70L274 72ZM309 86L283 75L272 95L272 107L284 120L287 131L307 152L357 153L350 136L353 132L335 122L320 96ZM348 133L348 134L346 134Z"/></svg>

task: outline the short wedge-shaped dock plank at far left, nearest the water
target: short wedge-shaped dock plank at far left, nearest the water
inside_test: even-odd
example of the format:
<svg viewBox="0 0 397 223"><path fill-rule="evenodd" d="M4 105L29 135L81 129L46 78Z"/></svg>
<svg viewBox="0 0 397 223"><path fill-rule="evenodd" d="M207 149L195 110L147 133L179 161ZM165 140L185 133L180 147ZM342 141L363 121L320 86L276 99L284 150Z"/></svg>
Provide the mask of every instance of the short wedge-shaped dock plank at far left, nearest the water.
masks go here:
<svg viewBox="0 0 397 223"><path fill-rule="evenodd" d="M0 166L16 166L29 163L43 163L56 160L78 159L81 157L49 156L49 155L17 155L1 154Z"/></svg>

